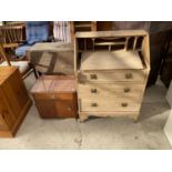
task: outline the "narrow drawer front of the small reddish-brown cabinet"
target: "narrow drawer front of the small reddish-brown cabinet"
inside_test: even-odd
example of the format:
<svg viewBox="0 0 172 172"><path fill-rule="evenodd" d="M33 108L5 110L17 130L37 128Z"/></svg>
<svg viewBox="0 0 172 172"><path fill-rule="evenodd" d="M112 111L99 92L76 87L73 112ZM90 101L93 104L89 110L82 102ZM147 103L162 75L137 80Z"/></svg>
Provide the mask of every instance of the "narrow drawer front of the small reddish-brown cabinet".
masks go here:
<svg viewBox="0 0 172 172"><path fill-rule="evenodd" d="M73 94L71 93L34 93L33 94L34 99L41 99L41 100L72 100Z"/></svg>

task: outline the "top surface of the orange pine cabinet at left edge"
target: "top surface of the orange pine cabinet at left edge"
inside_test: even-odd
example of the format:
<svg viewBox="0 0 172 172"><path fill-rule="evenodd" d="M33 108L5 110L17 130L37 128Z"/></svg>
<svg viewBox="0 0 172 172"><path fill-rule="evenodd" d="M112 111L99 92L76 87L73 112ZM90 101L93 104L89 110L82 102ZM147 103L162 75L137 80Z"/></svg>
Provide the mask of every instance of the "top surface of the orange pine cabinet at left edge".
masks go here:
<svg viewBox="0 0 172 172"><path fill-rule="evenodd" d="M16 70L17 67L0 67L0 84L2 84Z"/></svg>

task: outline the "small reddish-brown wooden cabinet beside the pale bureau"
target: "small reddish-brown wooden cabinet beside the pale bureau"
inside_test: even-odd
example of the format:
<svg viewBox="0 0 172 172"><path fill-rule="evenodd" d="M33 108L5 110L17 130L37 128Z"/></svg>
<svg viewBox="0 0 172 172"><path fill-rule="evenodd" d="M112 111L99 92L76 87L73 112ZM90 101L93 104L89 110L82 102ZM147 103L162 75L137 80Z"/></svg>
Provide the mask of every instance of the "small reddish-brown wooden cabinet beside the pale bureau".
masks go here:
<svg viewBox="0 0 172 172"><path fill-rule="evenodd" d="M73 75L42 75L31 89L41 118L77 118Z"/></svg>

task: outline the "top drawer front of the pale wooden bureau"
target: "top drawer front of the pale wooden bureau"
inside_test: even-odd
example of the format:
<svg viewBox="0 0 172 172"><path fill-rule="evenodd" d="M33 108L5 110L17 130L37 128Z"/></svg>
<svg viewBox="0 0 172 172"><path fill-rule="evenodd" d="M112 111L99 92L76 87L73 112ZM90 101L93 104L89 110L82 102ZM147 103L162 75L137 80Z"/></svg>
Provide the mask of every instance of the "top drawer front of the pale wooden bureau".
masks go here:
<svg viewBox="0 0 172 172"><path fill-rule="evenodd" d="M80 82L144 82L145 72L143 70L122 70L113 72L81 72Z"/></svg>

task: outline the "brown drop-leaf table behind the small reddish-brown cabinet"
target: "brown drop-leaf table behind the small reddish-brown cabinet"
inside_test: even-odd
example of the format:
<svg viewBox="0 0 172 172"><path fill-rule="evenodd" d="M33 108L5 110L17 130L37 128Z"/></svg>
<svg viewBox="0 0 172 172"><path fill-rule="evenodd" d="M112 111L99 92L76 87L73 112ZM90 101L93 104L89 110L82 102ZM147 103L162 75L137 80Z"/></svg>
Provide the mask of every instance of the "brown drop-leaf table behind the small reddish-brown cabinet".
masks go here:
<svg viewBox="0 0 172 172"><path fill-rule="evenodd" d="M74 73L73 43L36 43L27 53L36 70L43 74Z"/></svg>

